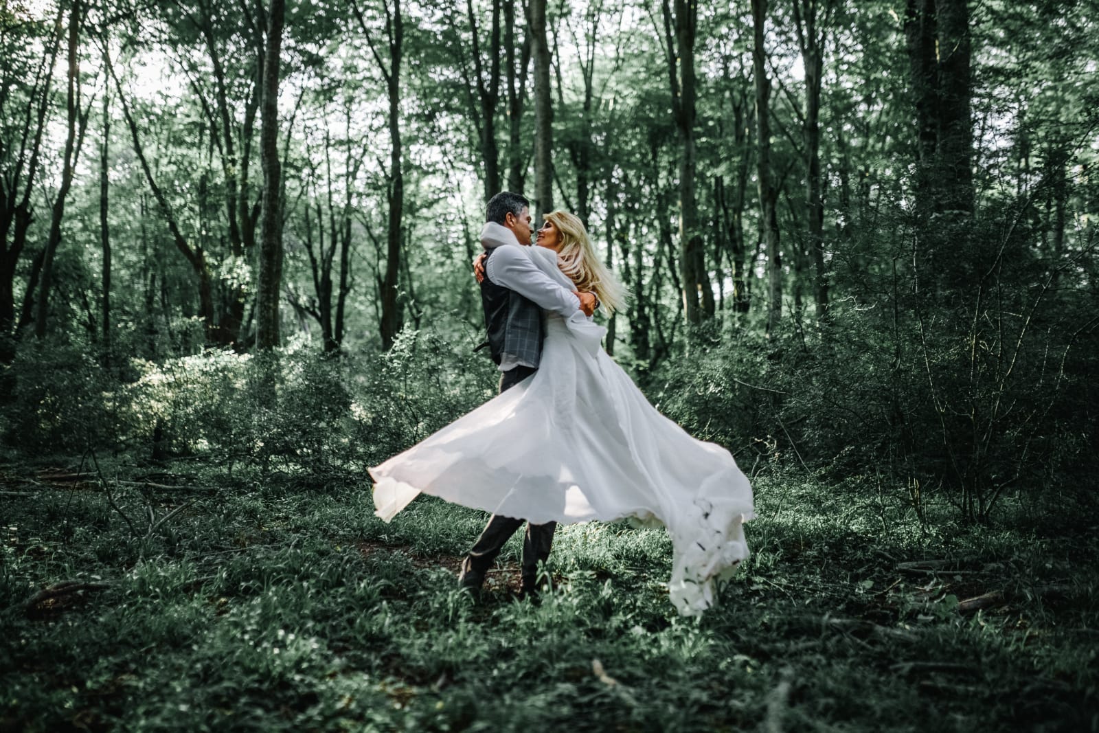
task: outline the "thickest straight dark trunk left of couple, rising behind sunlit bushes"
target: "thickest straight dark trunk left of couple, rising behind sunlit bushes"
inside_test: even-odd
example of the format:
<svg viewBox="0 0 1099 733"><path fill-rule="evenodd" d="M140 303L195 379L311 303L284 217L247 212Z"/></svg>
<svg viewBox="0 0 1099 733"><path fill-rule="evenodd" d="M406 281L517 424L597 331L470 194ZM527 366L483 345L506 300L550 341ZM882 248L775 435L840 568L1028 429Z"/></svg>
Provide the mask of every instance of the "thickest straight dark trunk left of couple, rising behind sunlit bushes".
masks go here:
<svg viewBox="0 0 1099 733"><path fill-rule="evenodd" d="M256 288L256 348L279 345L279 291L282 285L282 170L278 159L279 56L285 0L271 0L267 11L264 82L260 102L259 156L264 169L259 277Z"/></svg>

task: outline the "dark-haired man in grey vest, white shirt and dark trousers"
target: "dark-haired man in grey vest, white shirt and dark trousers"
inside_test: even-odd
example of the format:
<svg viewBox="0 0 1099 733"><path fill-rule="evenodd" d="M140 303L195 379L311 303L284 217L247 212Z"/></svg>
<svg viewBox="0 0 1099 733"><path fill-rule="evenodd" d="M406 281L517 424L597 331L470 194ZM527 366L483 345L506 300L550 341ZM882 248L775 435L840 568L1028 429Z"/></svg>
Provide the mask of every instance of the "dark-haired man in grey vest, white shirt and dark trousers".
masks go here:
<svg viewBox="0 0 1099 733"><path fill-rule="evenodd" d="M488 202L481 230L485 277L481 306L492 360L500 366L500 391L514 387L539 368L542 357L542 310L568 318L577 310L591 315L596 297L554 282L531 259L531 202L503 191ZM493 514L462 562L458 585L479 591L500 549L523 524L522 519ZM526 524L523 541L523 595L537 595L539 563L550 557L556 522Z"/></svg>

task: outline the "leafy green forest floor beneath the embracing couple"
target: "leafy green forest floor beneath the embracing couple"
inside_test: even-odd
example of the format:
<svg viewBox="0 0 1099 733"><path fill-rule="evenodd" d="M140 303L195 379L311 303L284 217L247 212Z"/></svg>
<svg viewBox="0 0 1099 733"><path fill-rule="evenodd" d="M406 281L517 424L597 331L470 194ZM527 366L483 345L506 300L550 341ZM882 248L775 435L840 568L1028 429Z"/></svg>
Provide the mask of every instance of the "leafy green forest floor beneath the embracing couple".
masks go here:
<svg viewBox="0 0 1099 733"><path fill-rule="evenodd" d="M474 602L481 512L101 463L0 465L2 731L1099 730L1088 512L921 524L761 476L752 558L686 619L663 530L559 527L539 604L517 534Z"/></svg>

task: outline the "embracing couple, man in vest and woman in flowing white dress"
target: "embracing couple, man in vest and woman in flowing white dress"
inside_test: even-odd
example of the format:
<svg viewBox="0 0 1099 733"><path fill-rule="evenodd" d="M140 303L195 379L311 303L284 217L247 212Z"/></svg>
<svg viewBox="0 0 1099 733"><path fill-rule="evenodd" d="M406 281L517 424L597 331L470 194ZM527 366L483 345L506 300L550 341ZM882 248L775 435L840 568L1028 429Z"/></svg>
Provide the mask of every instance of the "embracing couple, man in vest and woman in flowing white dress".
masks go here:
<svg viewBox="0 0 1099 733"><path fill-rule="evenodd" d="M657 412L602 349L592 313L620 308L623 290L579 219L546 214L534 246L522 196L492 197L486 219L476 269L500 393L371 468L376 513L388 522L421 492L491 512L462 563L470 589L525 520L524 595L537 592L558 522L663 524L670 599L700 613L748 555L747 478L725 448Z"/></svg>

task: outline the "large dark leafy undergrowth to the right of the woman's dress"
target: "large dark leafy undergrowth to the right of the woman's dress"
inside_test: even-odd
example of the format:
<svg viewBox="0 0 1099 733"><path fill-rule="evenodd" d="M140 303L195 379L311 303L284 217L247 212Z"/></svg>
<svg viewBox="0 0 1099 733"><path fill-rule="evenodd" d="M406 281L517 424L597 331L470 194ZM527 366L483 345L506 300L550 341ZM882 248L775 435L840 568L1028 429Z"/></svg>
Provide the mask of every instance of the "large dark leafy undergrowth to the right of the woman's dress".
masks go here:
<svg viewBox="0 0 1099 733"><path fill-rule="evenodd" d="M987 521L1008 495L1088 491L1099 468L1088 269L1053 269L1007 204L983 215L935 254L946 271L929 271L913 222L882 218L833 263L850 295L826 323L787 316L769 336L750 322L699 340L652 376L651 396L742 466L766 458L866 479L917 511L936 493L963 520ZM1076 262L1092 262L1092 245Z"/></svg>

